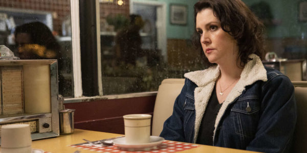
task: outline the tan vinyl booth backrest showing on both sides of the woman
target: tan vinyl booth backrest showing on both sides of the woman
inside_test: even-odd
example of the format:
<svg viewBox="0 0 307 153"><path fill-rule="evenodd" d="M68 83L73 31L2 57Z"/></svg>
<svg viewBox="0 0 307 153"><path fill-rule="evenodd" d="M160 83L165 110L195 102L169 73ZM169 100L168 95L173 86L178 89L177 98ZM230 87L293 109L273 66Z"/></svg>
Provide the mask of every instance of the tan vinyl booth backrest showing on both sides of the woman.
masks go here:
<svg viewBox="0 0 307 153"><path fill-rule="evenodd" d="M307 81L293 81L298 117L291 152L307 151ZM158 89L152 116L152 135L159 136L164 121L172 114L173 104L184 85L184 79L165 79Z"/></svg>

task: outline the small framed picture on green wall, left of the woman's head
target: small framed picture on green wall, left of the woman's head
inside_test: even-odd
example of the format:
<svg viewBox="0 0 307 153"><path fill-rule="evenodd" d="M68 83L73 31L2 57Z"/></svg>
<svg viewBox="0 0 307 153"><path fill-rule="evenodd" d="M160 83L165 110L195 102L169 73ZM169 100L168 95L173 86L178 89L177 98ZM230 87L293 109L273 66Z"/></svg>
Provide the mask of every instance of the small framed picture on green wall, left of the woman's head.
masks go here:
<svg viewBox="0 0 307 153"><path fill-rule="evenodd" d="M170 12L169 17L171 24L180 24L180 25L187 24L188 8L186 5L170 4L169 12Z"/></svg>

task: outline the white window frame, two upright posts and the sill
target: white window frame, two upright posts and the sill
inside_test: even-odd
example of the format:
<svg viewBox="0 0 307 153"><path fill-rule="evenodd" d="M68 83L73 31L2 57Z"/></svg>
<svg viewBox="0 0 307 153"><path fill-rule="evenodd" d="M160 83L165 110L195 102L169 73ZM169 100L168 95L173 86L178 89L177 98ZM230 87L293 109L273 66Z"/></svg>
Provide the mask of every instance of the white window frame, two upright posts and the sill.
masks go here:
<svg viewBox="0 0 307 153"><path fill-rule="evenodd" d="M96 1L96 21L97 21L97 42L100 42L100 19L99 19L99 0ZM74 97L65 98L65 103L77 103L81 101L90 101L97 99L97 96L86 97L82 95L82 77L81 77L81 54L80 54L80 21L79 21L79 1L71 0L71 22L72 22L72 60L73 60L73 81L74 81ZM99 27L99 28L98 28ZM103 95L101 81L101 58L100 58L100 43L97 43L98 54L98 99L118 99L118 98L133 98L141 96L157 95L158 91L138 92L117 95Z"/></svg>

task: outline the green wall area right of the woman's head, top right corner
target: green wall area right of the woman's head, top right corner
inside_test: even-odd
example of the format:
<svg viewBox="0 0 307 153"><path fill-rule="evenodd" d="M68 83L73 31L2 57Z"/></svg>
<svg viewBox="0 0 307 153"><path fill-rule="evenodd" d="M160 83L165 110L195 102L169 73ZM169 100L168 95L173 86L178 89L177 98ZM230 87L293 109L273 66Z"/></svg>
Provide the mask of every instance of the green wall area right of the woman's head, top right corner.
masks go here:
<svg viewBox="0 0 307 153"><path fill-rule="evenodd" d="M298 21L298 5L301 0L270 0L265 1L270 5L273 19L277 24L267 27L268 37L297 37L307 35L307 22ZM261 0L243 0L247 6L261 2Z"/></svg>

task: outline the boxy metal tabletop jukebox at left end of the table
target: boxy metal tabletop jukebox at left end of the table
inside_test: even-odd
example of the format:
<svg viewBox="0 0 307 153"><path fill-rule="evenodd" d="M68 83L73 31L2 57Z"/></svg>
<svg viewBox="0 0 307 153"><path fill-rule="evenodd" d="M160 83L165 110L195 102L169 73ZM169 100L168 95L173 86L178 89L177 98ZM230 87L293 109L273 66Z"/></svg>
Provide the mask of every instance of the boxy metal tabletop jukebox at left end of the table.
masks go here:
<svg viewBox="0 0 307 153"><path fill-rule="evenodd" d="M0 60L0 84L0 126L29 124L32 140L59 136L57 60Z"/></svg>

